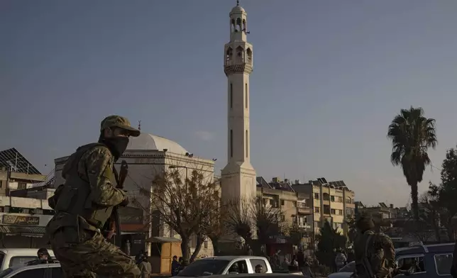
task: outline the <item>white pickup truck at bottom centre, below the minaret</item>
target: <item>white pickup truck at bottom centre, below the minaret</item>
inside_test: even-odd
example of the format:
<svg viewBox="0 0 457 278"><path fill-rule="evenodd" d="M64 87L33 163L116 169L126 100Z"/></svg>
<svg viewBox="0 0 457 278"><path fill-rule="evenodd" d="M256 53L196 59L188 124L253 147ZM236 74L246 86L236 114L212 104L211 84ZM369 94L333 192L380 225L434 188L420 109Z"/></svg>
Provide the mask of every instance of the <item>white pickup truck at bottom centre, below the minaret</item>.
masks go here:
<svg viewBox="0 0 457 278"><path fill-rule="evenodd" d="M217 274L253 274L255 266L261 265L263 272L272 273L265 257L220 256L196 260L183 269L176 277L200 277Z"/></svg>

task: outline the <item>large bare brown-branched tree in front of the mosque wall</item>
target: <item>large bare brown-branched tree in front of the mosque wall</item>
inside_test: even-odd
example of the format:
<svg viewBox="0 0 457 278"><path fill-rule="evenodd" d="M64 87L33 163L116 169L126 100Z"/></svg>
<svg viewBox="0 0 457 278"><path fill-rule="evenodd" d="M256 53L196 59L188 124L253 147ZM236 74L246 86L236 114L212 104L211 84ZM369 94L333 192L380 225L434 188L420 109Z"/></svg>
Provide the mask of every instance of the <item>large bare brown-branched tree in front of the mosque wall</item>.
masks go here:
<svg viewBox="0 0 457 278"><path fill-rule="evenodd" d="M152 187L140 188L141 194L150 198L157 220L180 235L183 259L193 260L204 243L209 218L219 211L219 187L197 169L184 178L177 169L169 169L153 179ZM197 235L197 245L191 256L192 235Z"/></svg>

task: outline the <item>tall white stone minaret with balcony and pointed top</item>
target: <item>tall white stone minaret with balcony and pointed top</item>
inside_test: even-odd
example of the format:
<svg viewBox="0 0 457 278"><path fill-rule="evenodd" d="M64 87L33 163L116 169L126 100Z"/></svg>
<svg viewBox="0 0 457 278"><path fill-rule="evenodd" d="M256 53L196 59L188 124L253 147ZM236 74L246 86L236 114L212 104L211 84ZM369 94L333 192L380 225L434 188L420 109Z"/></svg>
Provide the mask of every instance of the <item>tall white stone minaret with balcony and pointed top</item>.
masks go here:
<svg viewBox="0 0 457 278"><path fill-rule="evenodd" d="M255 169L250 164L249 74L253 71L253 46L247 42L246 11L239 5L230 12L230 41L224 47L227 76L227 158L222 170L224 200L250 200L255 196Z"/></svg>

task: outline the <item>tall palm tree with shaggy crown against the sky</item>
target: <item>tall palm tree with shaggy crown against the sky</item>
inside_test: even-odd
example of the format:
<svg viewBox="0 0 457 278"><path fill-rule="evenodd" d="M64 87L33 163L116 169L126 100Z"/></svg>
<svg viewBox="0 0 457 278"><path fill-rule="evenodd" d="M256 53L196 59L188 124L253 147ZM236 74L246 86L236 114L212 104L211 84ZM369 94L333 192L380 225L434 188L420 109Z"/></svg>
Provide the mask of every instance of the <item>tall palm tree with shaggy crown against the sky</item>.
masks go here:
<svg viewBox="0 0 457 278"><path fill-rule="evenodd" d="M392 140L390 162L402 167L404 177L411 187L412 211L414 220L419 221L417 204L417 184L422 182L425 167L431 164L427 150L435 148L435 120L424 117L421 107L402 109L390 123L387 138Z"/></svg>

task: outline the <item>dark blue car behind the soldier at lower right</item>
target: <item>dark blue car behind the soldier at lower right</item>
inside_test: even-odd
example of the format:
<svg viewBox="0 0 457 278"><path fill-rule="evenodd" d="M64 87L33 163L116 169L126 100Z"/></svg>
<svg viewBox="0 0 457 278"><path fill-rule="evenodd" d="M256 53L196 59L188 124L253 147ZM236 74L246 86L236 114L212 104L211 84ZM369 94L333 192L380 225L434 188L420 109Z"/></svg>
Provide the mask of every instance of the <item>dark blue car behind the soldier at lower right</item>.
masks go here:
<svg viewBox="0 0 457 278"><path fill-rule="evenodd" d="M400 271L408 272L408 274L397 274L395 277L451 278L453 250L454 243L398 248L395 250L395 260L398 268ZM412 262L416 262L415 267L411 267ZM353 273L341 272L341 270L330 274L329 278L349 278ZM345 271L348 271L348 269Z"/></svg>

